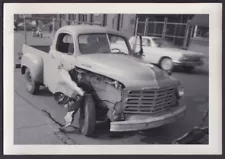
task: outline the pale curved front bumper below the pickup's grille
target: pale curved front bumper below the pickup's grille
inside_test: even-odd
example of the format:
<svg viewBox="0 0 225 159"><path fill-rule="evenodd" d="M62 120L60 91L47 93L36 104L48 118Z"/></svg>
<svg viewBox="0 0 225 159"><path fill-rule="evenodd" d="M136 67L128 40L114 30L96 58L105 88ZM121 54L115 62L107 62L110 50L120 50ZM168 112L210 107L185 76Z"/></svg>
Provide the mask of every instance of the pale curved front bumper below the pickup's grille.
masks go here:
<svg viewBox="0 0 225 159"><path fill-rule="evenodd" d="M159 116L153 115L132 115L132 118L126 121L117 121L110 123L110 131L137 131L159 127L172 123L185 114L186 106L179 106Z"/></svg>

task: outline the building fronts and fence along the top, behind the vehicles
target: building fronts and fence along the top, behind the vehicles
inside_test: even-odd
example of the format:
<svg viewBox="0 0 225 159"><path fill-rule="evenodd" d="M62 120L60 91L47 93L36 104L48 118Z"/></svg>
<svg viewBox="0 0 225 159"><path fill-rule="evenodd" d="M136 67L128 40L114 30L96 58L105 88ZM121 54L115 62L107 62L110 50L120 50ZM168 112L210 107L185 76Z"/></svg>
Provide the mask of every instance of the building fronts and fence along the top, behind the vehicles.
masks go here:
<svg viewBox="0 0 225 159"><path fill-rule="evenodd" d="M195 43L208 45L208 25L197 24L207 16L196 19L194 22L196 24L191 25L189 21L195 17L193 14L26 14L25 16L28 19L40 20L44 24L52 24L54 19L55 30L64 25L87 23L121 31L127 37L136 33L164 37L186 48ZM23 17L22 14L15 15L17 19L23 19ZM146 20L148 21L147 28ZM42 26L45 26L45 28L42 27L43 30L48 30L48 25Z"/></svg>

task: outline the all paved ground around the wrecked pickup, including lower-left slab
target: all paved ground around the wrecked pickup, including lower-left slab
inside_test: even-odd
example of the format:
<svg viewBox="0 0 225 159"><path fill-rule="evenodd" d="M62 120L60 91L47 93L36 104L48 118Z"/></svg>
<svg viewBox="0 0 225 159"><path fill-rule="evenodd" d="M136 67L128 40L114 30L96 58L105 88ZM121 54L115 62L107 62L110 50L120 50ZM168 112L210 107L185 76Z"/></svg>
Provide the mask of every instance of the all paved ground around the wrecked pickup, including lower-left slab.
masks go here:
<svg viewBox="0 0 225 159"><path fill-rule="evenodd" d="M15 53L21 50L21 44L23 43L22 39L23 35L21 33L15 34ZM39 45L50 44L50 38L47 37L43 40L39 39L39 41ZM28 40L28 44L37 45L34 41L32 42L32 39ZM17 60L15 60L15 63L17 63ZM106 125L97 125L97 132L94 138L84 137L79 134L76 129L71 129L71 131L63 137L73 141L73 144L171 143L175 138L198 124L204 111L208 109L208 65L196 69L193 73L185 73L182 70L176 70L176 72L173 73L173 76L178 78L185 87L184 101L188 109L184 119L160 128L129 133L110 133L108 132ZM14 78L15 144L34 144L35 142L37 142L37 144L63 144L62 139L59 140L59 136L55 135L53 132L58 125L54 123L43 110L50 113L51 117L59 123L64 123L63 117L66 113L66 109L57 105L52 98L51 93L45 89L42 89L36 96L27 93L23 76L20 74L20 69L15 69ZM19 105L21 107L19 107ZM21 113L22 111L25 111L24 114ZM25 115L28 121L25 121ZM39 120L41 122L39 122ZM43 128L33 129L33 132L28 132L27 126L24 126L26 124L22 122L28 122L28 126L32 125L30 123L33 122L33 127L36 125L36 127L42 126ZM76 121L74 122L74 126L77 126ZM38 133L39 135L35 133ZM27 136L30 137L27 138ZM41 141L42 138L45 138L48 142Z"/></svg>

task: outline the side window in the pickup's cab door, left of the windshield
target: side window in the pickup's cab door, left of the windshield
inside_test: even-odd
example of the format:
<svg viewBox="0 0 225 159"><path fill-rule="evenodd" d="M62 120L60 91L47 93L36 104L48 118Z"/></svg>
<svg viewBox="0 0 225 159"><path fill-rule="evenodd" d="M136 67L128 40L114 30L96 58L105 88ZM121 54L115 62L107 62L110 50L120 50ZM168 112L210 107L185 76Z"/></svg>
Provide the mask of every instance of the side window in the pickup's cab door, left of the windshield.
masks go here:
<svg viewBox="0 0 225 159"><path fill-rule="evenodd" d="M67 33L59 34L56 44L56 50L64 54L73 55L74 41L72 35Z"/></svg>

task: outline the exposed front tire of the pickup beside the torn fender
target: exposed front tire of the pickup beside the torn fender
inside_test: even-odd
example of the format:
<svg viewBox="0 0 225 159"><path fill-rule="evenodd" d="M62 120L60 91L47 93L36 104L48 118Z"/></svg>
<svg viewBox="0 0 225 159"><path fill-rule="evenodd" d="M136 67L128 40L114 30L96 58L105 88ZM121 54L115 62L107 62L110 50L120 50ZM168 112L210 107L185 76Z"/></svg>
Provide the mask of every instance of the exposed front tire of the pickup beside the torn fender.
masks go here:
<svg viewBox="0 0 225 159"><path fill-rule="evenodd" d="M96 110L92 96L86 94L80 108L79 126L80 131L85 136L92 136L95 131Z"/></svg>

